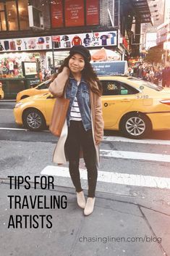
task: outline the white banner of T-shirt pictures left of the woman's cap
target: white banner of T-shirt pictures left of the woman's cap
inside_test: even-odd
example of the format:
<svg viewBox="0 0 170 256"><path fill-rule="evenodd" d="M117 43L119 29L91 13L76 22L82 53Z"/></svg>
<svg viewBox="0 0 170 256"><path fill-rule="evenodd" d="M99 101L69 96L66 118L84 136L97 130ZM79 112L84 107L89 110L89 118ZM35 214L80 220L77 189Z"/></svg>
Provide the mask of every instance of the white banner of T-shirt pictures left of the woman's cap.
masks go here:
<svg viewBox="0 0 170 256"><path fill-rule="evenodd" d="M51 36L0 40L0 51L32 51L51 49Z"/></svg>

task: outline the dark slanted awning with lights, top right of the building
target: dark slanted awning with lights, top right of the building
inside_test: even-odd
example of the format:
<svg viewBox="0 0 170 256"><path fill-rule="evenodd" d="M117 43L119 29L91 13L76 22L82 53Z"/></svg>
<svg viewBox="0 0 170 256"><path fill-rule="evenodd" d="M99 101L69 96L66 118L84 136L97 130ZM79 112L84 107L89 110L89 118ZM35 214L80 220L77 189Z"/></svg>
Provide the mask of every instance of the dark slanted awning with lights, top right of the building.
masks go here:
<svg viewBox="0 0 170 256"><path fill-rule="evenodd" d="M132 4L141 23L153 24L147 0L132 0Z"/></svg>

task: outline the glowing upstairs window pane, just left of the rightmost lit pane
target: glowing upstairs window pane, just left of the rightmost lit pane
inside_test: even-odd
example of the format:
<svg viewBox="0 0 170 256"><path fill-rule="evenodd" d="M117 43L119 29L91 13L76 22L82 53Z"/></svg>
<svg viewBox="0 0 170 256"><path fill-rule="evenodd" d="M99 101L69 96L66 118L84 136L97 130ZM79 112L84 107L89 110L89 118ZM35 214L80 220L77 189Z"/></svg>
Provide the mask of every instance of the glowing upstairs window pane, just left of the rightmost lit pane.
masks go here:
<svg viewBox="0 0 170 256"><path fill-rule="evenodd" d="M18 22L17 22L17 7L15 1L7 1L7 20L9 25L9 30L18 30Z"/></svg>

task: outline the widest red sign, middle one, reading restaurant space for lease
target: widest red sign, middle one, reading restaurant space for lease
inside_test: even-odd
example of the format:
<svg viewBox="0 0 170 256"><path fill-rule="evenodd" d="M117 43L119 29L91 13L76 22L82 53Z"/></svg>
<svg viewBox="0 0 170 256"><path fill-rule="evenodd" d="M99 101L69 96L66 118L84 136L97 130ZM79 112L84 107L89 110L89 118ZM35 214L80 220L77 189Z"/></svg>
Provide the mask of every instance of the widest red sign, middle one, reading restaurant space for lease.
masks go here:
<svg viewBox="0 0 170 256"><path fill-rule="evenodd" d="M84 0L65 1L65 25L66 27L85 25Z"/></svg>

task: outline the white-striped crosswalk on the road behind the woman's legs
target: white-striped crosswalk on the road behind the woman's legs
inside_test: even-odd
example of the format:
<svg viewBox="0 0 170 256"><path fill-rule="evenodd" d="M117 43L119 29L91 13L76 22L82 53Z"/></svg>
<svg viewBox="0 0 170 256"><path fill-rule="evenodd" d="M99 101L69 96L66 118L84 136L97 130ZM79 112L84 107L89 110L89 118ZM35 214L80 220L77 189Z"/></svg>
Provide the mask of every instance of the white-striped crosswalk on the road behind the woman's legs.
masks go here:
<svg viewBox="0 0 170 256"><path fill-rule="evenodd" d="M119 138L120 140L120 138ZM103 141L118 141L118 139L104 137ZM123 141L129 141L130 143L136 143L129 139L123 139ZM151 141L151 140L150 140ZM140 144L141 141L137 141ZM149 140L147 141L149 145ZM154 142L154 143L153 143ZM169 146L170 141L154 141L152 140L152 144L157 145L165 145ZM143 144L143 142L141 143ZM150 153L150 152L133 152L133 151L119 151L119 150L109 150L109 149L101 149L100 156L104 157L106 161L110 162L112 160L134 160L136 162L145 161L150 162L151 164L163 164L169 165L170 162L170 147L169 152L166 154L158 154L158 153ZM85 170L85 165L80 164L80 177L82 181L86 181L87 183L87 171ZM129 162L130 165L130 162ZM128 170L128 168L127 168ZM153 172L152 172L153 173ZM162 172L163 173L163 172ZM56 166L56 165L48 165L46 168L43 168L41 171L41 175L54 176L58 179L60 186L72 186L72 183L68 182L69 178L69 170L68 166ZM163 175L162 175L163 176ZM119 173L116 171L116 166L110 166L108 171L98 170L98 182L102 184L102 186L109 185L123 185L123 186L134 186L134 187L148 187L148 188L156 188L156 189L170 189L170 178L161 177L161 176L150 176L134 174L134 173ZM100 191L100 186L98 186L98 191Z"/></svg>

